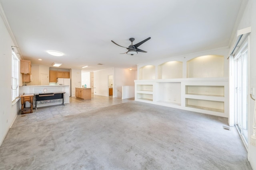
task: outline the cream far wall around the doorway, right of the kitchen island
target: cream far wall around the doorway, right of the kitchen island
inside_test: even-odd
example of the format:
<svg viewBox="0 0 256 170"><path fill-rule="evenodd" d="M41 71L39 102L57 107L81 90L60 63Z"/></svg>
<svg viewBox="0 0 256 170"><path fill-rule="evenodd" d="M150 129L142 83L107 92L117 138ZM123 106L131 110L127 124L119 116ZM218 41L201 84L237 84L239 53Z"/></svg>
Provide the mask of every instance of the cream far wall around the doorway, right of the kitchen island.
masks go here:
<svg viewBox="0 0 256 170"><path fill-rule="evenodd" d="M94 94L108 96L108 76L114 75L114 68L94 71ZM113 87L114 88L114 87ZM113 90L114 97L114 90Z"/></svg>

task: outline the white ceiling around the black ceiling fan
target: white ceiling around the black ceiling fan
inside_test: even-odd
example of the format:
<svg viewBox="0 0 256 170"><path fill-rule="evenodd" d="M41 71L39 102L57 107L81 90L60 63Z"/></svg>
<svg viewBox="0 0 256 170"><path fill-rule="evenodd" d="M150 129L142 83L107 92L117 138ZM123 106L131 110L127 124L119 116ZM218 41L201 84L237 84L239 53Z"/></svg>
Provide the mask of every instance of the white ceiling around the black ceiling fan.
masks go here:
<svg viewBox="0 0 256 170"><path fill-rule="evenodd" d="M243 0L0 0L22 57L94 71L227 47ZM125 48L151 37L130 56ZM54 57L46 51L64 53ZM42 59L39 61L38 59ZM98 65L102 63L103 65Z"/></svg>

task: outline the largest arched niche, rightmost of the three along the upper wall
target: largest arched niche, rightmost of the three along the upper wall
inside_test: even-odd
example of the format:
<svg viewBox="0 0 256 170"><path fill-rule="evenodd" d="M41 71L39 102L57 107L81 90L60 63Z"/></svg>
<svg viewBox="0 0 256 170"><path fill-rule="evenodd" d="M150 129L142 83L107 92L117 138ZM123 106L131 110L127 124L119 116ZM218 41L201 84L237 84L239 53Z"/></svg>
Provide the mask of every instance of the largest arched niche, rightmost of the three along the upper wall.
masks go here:
<svg viewBox="0 0 256 170"><path fill-rule="evenodd" d="M223 77L224 56L205 55L187 61L187 78Z"/></svg>

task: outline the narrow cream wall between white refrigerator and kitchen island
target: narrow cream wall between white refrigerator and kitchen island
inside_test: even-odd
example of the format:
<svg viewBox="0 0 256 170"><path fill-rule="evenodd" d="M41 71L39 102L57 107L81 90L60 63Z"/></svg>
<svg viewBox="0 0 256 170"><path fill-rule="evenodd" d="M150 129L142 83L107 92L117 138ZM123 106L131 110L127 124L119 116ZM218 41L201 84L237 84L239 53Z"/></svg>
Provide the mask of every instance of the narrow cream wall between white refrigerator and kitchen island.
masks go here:
<svg viewBox="0 0 256 170"><path fill-rule="evenodd" d="M76 96L76 88L82 88L81 77L82 77L81 70L77 70L77 69L70 70L71 96Z"/></svg>

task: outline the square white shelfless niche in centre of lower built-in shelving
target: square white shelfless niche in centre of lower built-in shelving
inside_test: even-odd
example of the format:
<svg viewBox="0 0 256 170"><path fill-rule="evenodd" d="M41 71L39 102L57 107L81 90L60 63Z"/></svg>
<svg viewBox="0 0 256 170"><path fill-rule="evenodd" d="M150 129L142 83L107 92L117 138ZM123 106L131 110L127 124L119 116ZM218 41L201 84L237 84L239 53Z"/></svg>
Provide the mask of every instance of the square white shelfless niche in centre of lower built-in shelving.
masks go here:
<svg viewBox="0 0 256 170"><path fill-rule="evenodd" d="M181 83L180 82L160 82L158 92L158 102L165 104L181 104Z"/></svg>

